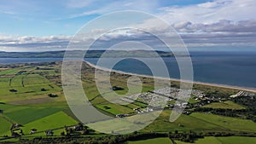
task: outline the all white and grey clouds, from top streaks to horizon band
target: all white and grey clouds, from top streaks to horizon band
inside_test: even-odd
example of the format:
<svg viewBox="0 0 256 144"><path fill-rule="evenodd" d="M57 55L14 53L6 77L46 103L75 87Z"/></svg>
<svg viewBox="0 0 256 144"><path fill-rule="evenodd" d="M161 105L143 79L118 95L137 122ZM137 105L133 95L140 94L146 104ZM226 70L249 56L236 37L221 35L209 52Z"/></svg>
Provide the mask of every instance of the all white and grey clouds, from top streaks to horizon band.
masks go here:
<svg viewBox="0 0 256 144"><path fill-rule="evenodd" d="M155 1L154 1L155 2ZM69 3L67 7L82 8L88 7L92 1L86 3ZM137 3L145 3L139 1ZM139 9L140 4L134 1L125 3L114 2L107 4L102 9L85 11L82 14L75 14L72 17L87 14L103 14L111 11L112 8L119 9ZM145 4L144 4L145 5ZM155 3L146 4L146 9L155 8ZM157 14L166 20L183 38L188 47L208 47L208 46L255 46L256 45L256 13L255 0L214 0L207 3L193 4L188 6L170 6L159 9ZM114 20L114 19L113 19ZM166 26L161 25L157 19L149 19L141 24L135 25L145 31L156 32L161 35L166 33ZM132 27L132 26L131 26ZM139 40L151 46L161 48L162 43L155 41L155 37L147 32L137 30L119 30L109 32L108 29L94 29L90 33L84 33L80 41L95 40L93 37L102 32L107 32L96 41L96 48L106 49L114 43L127 40ZM0 35L0 50L6 51L44 51L66 49L72 36L49 36L49 37L18 37ZM79 47L78 47L79 48ZM82 48L79 48L82 49ZM207 49L207 48L206 48Z"/></svg>

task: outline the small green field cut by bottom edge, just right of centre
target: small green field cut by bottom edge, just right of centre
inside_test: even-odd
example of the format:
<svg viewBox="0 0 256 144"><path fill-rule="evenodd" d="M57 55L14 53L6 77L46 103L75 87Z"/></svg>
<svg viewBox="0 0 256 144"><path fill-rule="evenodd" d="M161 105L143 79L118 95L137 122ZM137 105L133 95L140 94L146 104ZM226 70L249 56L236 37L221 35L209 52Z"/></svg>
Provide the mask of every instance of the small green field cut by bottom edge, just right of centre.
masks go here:
<svg viewBox="0 0 256 144"><path fill-rule="evenodd" d="M125 144L172 144L172 141L169 138L155 138L155 139L148 139L142 141L128 141Z"/></svg>

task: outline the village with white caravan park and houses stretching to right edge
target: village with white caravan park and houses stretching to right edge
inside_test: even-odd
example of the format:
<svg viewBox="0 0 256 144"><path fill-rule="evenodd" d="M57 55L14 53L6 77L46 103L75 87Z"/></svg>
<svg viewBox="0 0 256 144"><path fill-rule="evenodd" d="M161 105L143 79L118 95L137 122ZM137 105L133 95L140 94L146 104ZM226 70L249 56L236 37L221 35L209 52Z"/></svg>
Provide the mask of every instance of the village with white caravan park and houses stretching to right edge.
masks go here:
<svg viewBox="0 0 256 144"><path fill-rule="evenodd" d="M191 93L191 95L189 95ZM125 102L141 102L147 104L148 107L137 107L133 110L138 114L145 112L154 112L155 110L160 109L172 109L173 107L183 108L183 114L190 114L192 108L203 107L205 105L211 104L212 102L224 102L229 101L230 99L236 98L238 96L255 96L255 94L247 91L239 91L236 95L230 95L230 97L223 96L207 96L204 94L204 91L192 89L177 89L166 87L163 89L155 89L153 91L148 91L145 93L137 95L129 95L120 98L121 101ZM187 98L187 101L184 101L183 98ZM189 102L189 99L194 102ZM130 114L118 114L117 118L123 118L126 116L131 116Z"/></svg>

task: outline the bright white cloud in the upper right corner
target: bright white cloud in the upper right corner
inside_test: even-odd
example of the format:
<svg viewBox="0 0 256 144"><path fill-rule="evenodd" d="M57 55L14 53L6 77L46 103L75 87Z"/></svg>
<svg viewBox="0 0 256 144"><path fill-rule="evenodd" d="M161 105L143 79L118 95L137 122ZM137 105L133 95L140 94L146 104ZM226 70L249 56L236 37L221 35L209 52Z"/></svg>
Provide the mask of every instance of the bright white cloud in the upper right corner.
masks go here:
<svg viewBox="0 0 256 144"><path fill-rule="evenodd" d="M213 23L218 20L251 20L256 18L255 0L215 0L189 6L161 8L158 14L171 24L183 20L193 23Z"/></svg>

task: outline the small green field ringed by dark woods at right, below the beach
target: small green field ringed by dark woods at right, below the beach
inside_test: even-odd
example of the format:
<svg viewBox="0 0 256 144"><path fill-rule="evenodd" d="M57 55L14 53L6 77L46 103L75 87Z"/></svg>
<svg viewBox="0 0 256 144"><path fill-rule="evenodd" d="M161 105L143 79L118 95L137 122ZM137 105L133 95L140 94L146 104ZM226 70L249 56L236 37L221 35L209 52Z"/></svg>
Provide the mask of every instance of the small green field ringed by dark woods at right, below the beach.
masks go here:
<svg viewBox="0 0 256 144"><path fill-rule="evenodd" d="M238 105L233 101L213 102L203 107L223 108L223 109L245 109L245 107L242 107L241 105Z"/></svg>

